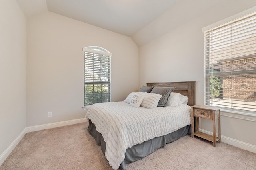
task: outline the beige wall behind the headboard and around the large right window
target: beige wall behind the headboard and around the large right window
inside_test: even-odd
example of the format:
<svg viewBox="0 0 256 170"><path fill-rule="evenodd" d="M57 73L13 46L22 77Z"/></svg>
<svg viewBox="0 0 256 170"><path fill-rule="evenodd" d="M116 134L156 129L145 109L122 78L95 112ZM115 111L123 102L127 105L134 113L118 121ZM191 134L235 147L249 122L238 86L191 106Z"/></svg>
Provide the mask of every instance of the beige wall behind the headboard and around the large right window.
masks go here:
<svg viewBox="0 0 256 170"><path fill-rule="evenodd" d="M202 28L253 6L256 6L256 1L218 2L200 16L140 47L139 85L145 85L147 82L196 80L196 104L203 105L204 34ZM168 24L172 23L166 23ZM255 134L255 121L227 116L221 116L221 119L222 135L256 145L256 135L252 135ZM212 131L212 123L201 120L202 129Z"/></svg>

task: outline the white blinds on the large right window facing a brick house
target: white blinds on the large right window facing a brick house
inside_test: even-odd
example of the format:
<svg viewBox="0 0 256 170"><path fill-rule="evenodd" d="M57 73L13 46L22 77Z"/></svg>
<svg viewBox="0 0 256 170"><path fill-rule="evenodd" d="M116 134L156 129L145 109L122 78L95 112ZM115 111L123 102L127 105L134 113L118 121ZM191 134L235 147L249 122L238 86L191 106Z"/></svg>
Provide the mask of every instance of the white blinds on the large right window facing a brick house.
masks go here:
<svg viewBox="0 0 256 170"><path fill-rule="evenodd" d="M205 105L256 113L256 12L204 31Z"/></svg>

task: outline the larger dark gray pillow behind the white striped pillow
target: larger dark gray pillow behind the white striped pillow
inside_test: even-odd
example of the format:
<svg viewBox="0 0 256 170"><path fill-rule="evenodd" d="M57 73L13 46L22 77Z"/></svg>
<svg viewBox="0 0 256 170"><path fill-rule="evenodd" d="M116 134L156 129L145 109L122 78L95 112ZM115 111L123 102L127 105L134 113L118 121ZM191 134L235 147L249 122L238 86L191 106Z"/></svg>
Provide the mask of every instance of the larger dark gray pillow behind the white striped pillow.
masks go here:
<svg viewBox="0 0 256 170"><path fill-rule="evenodd" d="M167 106L167 100L174 89L175 87L154 87L152 89L151 93L156 93L163 96L162 98L160 98L157 107Z"/></svg>

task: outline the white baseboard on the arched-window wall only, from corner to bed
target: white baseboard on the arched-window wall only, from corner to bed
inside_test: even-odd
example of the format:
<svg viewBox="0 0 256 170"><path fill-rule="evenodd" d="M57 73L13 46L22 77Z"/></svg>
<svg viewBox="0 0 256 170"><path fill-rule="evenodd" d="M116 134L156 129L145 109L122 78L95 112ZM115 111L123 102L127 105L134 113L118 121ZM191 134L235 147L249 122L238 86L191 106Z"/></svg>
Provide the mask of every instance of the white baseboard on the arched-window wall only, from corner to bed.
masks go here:
<svg viewBox="0 0 256 170"><path fill-rule="evenodd" d="M40 130L44 130L44 129L50 129L50 128L54 128L54 127L74 125L74 124L83 123L86 121L87 121L86 118L81 118L81 119L74 119L74 120L68 120L68 121L60 121L60 122L56 122L56 123L48 123L48 124L44 124L44 125L30 126L30 127L26 127L26 133L40 131Z"/></svg>

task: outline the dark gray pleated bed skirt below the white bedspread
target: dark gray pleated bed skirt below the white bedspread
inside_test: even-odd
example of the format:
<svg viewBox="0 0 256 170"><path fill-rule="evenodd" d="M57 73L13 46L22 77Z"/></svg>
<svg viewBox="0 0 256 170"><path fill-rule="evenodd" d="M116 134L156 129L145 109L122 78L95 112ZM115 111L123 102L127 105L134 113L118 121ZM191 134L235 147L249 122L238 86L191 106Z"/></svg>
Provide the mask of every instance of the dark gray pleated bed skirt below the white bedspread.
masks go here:
<svg viewBox="0 0 256 170"><path fill-rule="evenodd" d="M101 150L105 155L106 142L104 141L101 133L99 133L95 125L89 120L88 131L92 137L96 140L97 145L101 145ZM150 139L148 141L144 141L141 144L134 145L132 148L126 149L125 159L120 164L119 169L124 170L126 164L134 162L136 160L140 160L149 154L153 153L160 147L166 146L167 143L174 142L180 137L191 134L191 125L185 126L177 131L169 133L168 135L164 135L161 137L156 137L154 139Z"/></svg>

